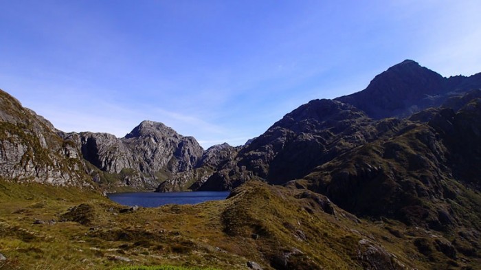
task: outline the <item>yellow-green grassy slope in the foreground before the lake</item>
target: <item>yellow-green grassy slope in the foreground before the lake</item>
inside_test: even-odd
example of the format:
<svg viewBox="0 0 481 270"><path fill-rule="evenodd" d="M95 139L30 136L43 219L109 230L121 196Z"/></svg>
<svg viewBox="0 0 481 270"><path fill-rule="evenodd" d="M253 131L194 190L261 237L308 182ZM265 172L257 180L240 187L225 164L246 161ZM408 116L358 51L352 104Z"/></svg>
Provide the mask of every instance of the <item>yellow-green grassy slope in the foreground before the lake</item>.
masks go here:
<svg viewBox="0 0 481 270"><path fill-rule="evenodd" d="M0 181L0 253L9 258L0 269L247 269L249 260L264 269L363 269L372 267L369 250L378 248L392 254L392 269L432 269L414 240L438 237L433 232L359 221L337 207L326 214L302 192L249 182L225 201L123 212L128 208L75 188ZM447 269L449 262L476 263L435 265Z"/></svg>

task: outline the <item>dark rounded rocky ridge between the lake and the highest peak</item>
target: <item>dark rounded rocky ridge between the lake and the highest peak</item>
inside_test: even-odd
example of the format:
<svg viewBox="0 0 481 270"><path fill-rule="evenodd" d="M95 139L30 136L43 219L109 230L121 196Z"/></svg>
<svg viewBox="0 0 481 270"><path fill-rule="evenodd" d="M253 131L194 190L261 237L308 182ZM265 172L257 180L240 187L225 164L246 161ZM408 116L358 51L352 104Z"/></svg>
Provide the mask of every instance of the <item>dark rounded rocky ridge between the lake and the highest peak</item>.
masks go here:
<svg viewBox="0 0 481 270"><path fill-rule="evenodd" d="M342 151L363 144L372 120L355 107L335 100L312 100L285 115L264 134L218 166L201 189L231 189L249 179L285 183Z"/></svg>

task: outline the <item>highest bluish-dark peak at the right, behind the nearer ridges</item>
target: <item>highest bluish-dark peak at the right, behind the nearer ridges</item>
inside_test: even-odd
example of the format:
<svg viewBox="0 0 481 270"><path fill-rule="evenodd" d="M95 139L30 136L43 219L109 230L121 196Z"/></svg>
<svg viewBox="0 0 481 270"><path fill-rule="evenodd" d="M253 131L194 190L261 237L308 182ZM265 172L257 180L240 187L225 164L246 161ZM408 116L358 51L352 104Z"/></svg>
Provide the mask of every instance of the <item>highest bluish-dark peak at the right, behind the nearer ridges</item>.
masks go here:
<svg viewBox="0 0 481 270"><path fill-rule="evenodd" d="M363 91L336 98L365 111L369 117L405 117L447 98L481 87L481 74L444 78L413 60L390 67Z"/></svg>

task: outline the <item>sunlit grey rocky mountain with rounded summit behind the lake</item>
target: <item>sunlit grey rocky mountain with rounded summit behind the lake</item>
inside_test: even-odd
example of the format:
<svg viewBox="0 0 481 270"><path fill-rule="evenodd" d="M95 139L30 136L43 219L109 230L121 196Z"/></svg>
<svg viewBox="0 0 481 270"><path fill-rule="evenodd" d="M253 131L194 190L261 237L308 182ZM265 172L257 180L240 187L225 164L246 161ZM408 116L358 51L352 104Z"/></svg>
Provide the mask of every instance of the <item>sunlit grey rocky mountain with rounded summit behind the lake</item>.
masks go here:
<svg viewBox="0 0 481 270"><path fill-rule="evenodd" d="M108 133L69 133L93 166L139 190L152 190L178 172L192 170L203 154L193 137L184 137L162 123L144 121L117 138ZM95 172L93 172L95 177ZM100 177L98 177L100 178Z"/></svg>

